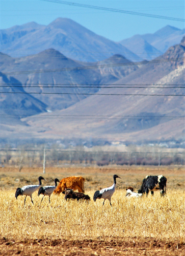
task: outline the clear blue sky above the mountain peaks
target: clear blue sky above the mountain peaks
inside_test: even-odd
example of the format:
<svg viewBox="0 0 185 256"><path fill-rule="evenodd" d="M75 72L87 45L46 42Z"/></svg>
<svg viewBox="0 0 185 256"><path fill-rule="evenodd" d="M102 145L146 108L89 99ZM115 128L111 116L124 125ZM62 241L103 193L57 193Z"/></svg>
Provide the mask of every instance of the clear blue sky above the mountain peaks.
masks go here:
<svg viewBox="0 0 185 256"><path fill-rule="evenodd" d="M71 0L71 2L184 18L184 1L181 0ZM1 29L22 25L28 22L48 25L58 17L67 17L99 35L114 41L119 41L135 34L153 33L166 25L171 25L180 29L184 28L182 22L173 20L87 9L83 7L44 2L41 0L4 0L0 3Z"/></svg>

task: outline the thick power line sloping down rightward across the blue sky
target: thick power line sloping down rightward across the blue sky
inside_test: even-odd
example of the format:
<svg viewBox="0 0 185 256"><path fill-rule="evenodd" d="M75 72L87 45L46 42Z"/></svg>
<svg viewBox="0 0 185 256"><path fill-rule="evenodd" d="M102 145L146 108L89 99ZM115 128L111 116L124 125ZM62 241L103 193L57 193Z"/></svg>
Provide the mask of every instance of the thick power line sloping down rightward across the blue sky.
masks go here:
<svg viewBox="0 0 185 256"><path fill-rule="evenodd" d="M59 1L59 0L41 0L41 1L57 3L57 4L62 4L62 5L85 7L85 8L96 9L96 10L106 10L106 11L120 12L120 13L131 14L131 15L146 16L146 17L151 17L151 18L169 19L169 20L175 20L177 22L184 22L185 21L185 19L183 19L183 18L167 17L167 16L162 16L162 15L154 15L154 14L148 14L148 13L126 11L126 10L120 10L120 9L113 9L113 8L99 7L99 6L93 6L93 5L78 4L78 3Z"/></svg>

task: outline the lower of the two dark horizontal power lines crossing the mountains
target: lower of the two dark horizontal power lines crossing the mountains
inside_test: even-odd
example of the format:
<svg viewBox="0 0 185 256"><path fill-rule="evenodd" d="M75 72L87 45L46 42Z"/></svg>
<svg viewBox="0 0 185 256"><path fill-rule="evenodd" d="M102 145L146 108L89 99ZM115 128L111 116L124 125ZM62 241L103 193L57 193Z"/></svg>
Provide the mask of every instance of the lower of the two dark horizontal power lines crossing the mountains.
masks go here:
<svg viewBox="0 0 185 256"><path fill-rule="evenodd" d="M45 93L45 92L0 92L3 94L59 94L59 95L104 95L104 96L185 96L185 94L106 94L106 93Z"/></svg>

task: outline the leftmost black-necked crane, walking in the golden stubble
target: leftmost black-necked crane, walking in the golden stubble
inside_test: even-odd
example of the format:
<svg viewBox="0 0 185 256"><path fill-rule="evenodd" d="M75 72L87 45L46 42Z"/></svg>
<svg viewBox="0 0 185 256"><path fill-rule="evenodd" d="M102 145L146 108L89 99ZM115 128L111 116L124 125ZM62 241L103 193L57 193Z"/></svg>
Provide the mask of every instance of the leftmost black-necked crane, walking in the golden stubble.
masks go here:
<svg viewBox="0 0 185 256"><path fill-rule="evenodd" d="M42 186L41 180L45 180L45 179L42 176L40 176L38 180L39 180L39 185L28 185L28 186L23 186L21 188L18 187L15 192L16 199L20 195L20 196L25 196L25 199L27 198L27 196L29 196L32 200L32 194ZM24 199L24 204L25 204L25 199ZM34 204L33 200L32 200L32 203Z"/></svg>

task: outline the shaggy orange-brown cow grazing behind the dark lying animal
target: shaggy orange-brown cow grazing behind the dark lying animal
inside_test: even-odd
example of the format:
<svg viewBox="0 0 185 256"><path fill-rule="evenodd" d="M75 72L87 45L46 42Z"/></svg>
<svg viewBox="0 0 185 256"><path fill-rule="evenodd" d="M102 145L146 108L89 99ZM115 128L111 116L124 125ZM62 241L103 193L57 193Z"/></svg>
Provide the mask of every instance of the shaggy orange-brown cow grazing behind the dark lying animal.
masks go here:
<svg viewBox="0 0 185 256"><path fill-rule="evenodd" d="M85 179L82 176L71 176L64 178L60 181L61 183L58 185L58 187L54 190L54 194L60 194L63 192L66 188L71 188L74 190L78 190L78 192L84 193L84 182Z"/></svg>

